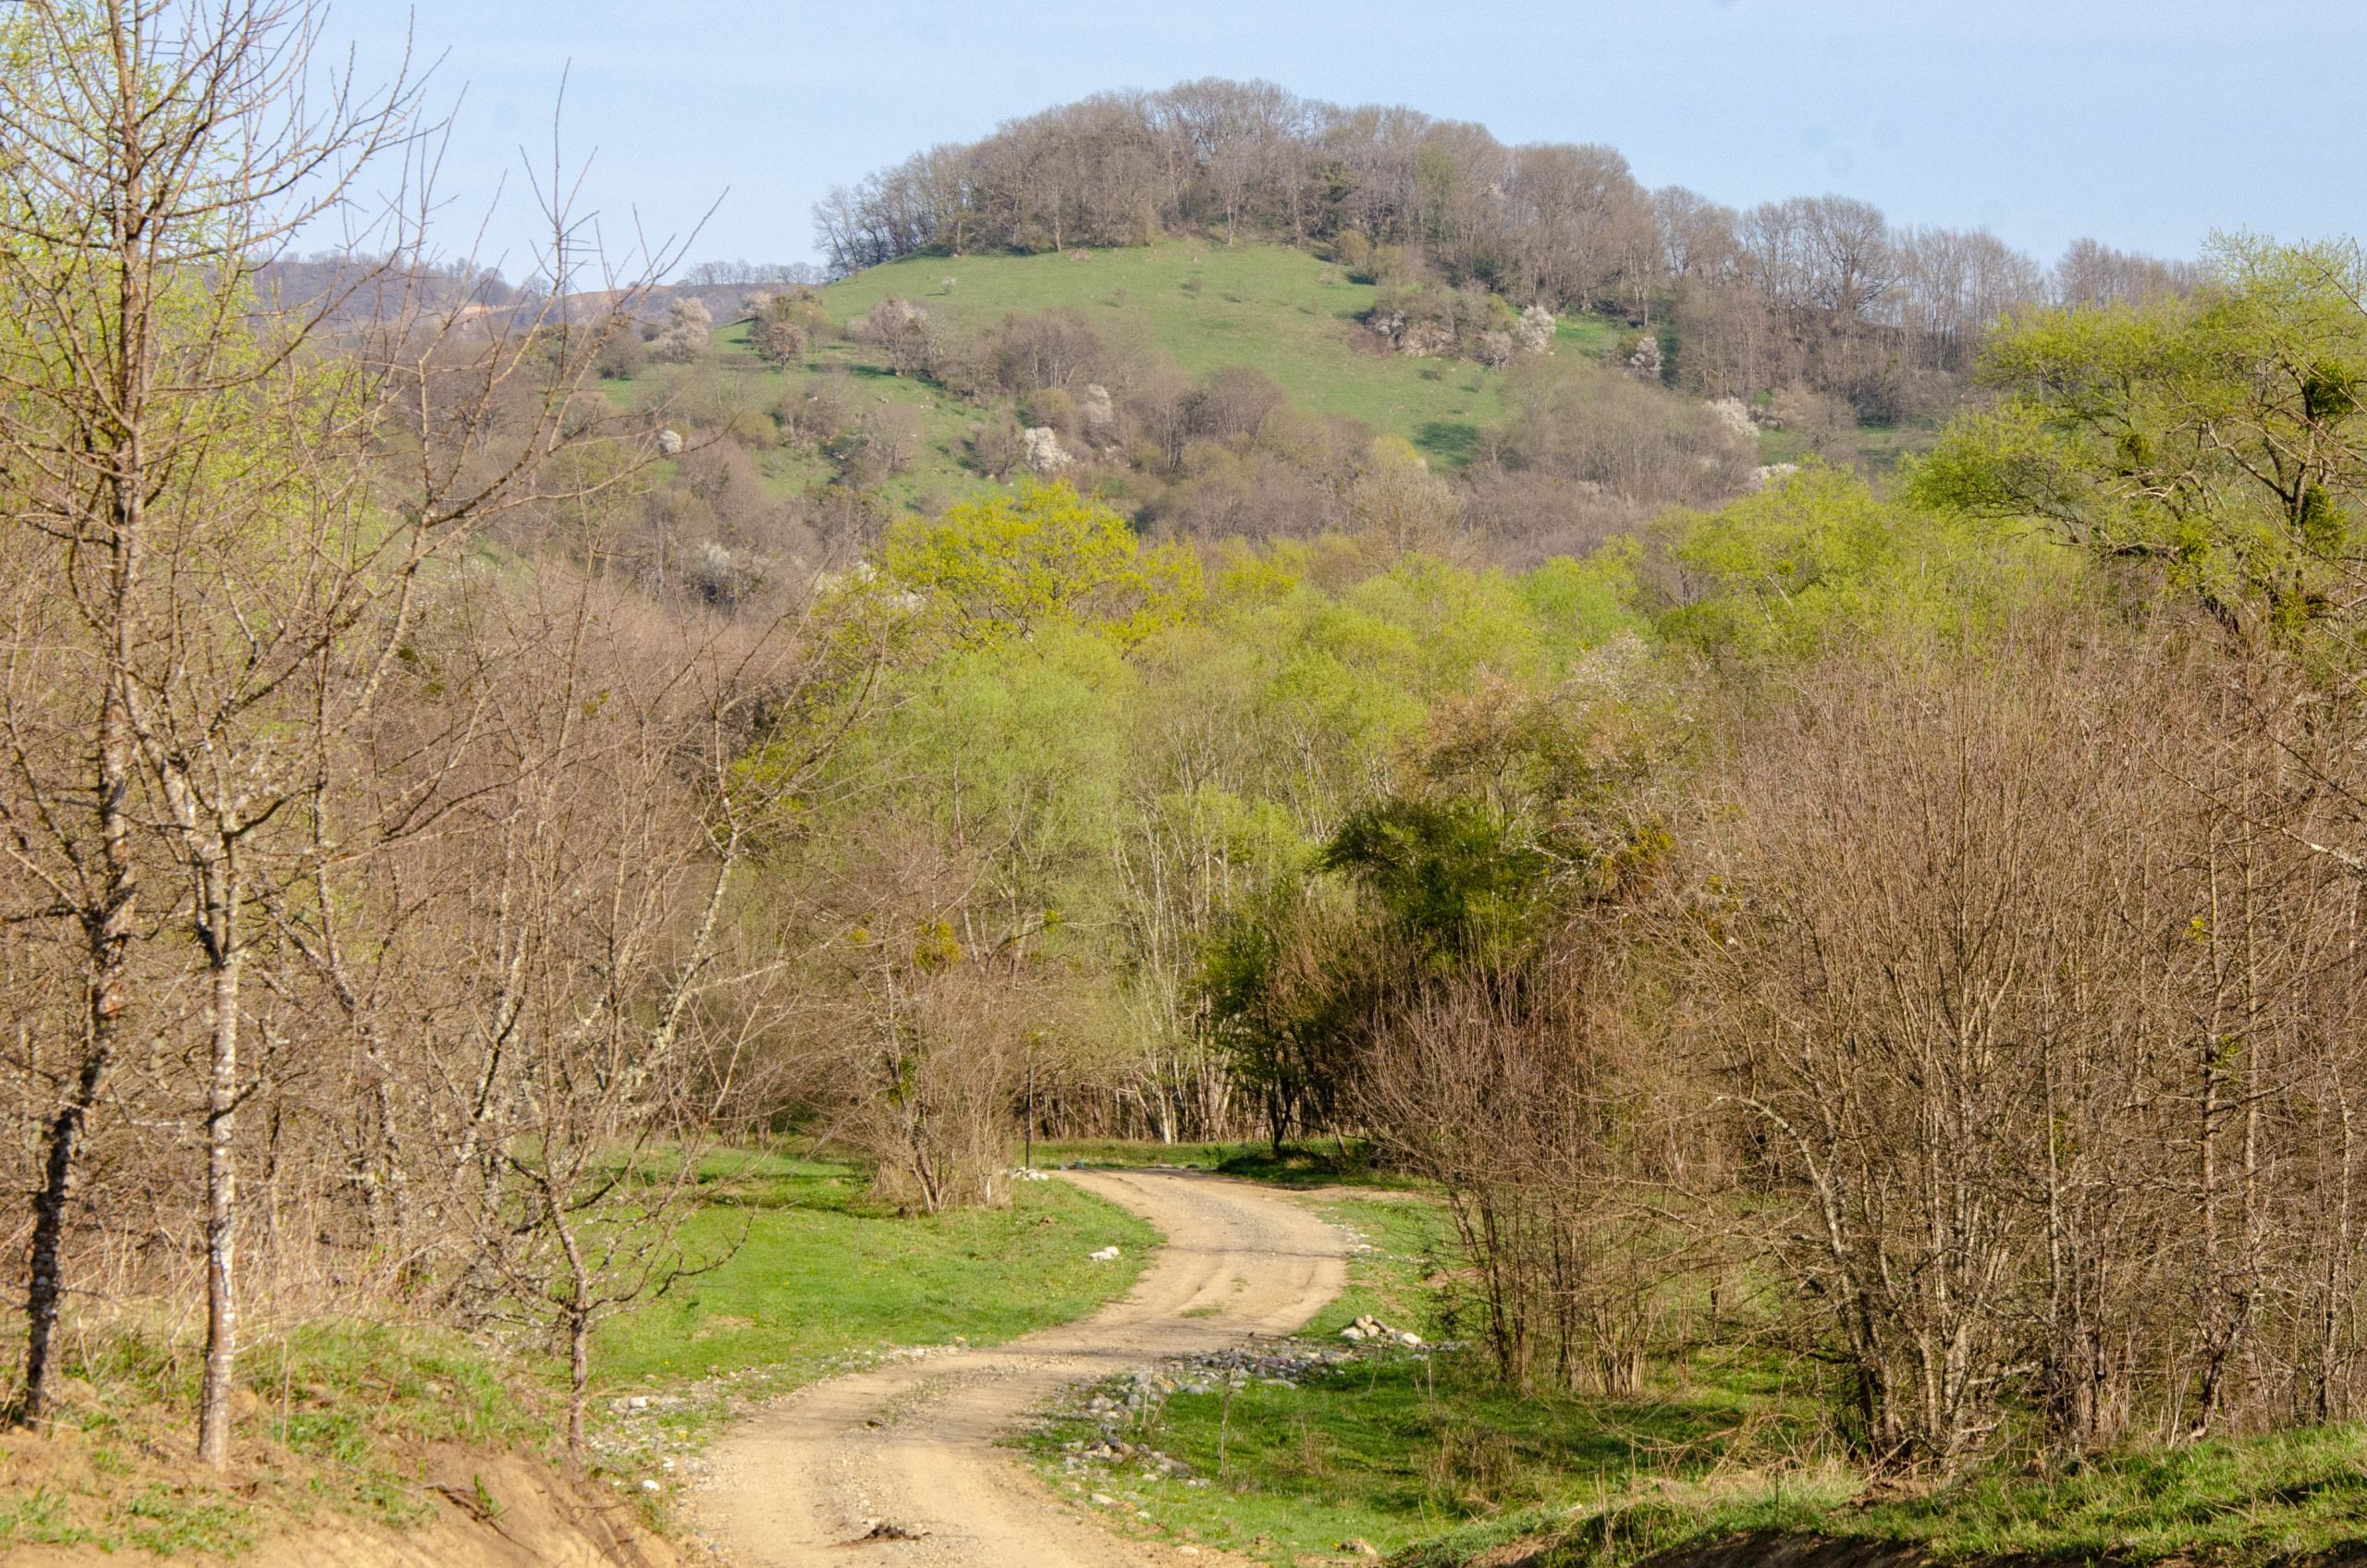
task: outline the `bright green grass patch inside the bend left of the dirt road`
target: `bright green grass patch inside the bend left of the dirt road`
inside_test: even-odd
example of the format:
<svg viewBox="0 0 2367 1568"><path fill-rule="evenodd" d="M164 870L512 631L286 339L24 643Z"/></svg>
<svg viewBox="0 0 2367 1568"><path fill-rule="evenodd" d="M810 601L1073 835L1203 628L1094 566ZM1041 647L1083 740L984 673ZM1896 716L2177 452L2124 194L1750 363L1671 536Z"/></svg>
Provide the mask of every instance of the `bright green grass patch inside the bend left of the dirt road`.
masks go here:
<svg viewBox="0 0 2367 1568"><path fill-rule="evenodd" d="M753 1156L686 1246L746 1241L715 1272L611 1319L604 1390L750 1367L817 1369L883 1345L989 1345L1070 1322L1124 1293L1157 1232L1068 1182L1015 1182L1008 1208L902 1220L852 1165ZM1120 1246L1117 1262L1086 1253Z"/></svg>

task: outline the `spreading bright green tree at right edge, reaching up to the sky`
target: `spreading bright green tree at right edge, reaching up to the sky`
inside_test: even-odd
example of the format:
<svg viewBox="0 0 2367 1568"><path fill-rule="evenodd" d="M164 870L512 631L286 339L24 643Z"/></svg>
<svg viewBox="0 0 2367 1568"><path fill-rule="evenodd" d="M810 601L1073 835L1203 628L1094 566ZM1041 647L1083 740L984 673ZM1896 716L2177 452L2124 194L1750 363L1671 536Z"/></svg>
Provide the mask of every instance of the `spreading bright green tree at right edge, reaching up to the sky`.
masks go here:
<svg viewBox="0 0 2367 1568"><path fill-rule="evenodd" d="M2029 519L2095 557L2159 564L2244 642L2360 602L2367 256L2358 242L2220 239L2187 298L2002 324L1908 495Z"/></svg>

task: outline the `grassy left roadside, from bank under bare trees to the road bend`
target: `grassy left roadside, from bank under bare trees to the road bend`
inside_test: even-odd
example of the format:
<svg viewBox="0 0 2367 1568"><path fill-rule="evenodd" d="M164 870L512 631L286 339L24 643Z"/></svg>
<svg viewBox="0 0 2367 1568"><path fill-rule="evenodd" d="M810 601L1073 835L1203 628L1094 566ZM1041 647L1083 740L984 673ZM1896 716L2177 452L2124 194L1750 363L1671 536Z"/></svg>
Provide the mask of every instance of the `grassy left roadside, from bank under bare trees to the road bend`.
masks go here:
<svg viewBox="0 0 2367 1568"><path fill-rule="evenodd" d="M1020 1182L1004 1210L897 1217L852 1165L786 1153L712 1161L694 1253L739 1239L599 1331L592 1480L663 1525L717 1421L817 1376L987 1345L1082 1317L1139 1277L1157 1232L1068 1182ZM1117 1246L1120 1260L1086 1253ZM263 1305L263 1303L256 1303ZM69 1322L64 1412L0 1433L0 1551L237 1556L303 1523L402 1528L471 1457L556 1459L559 1371L431 1324L308 1322L239 1357L234 1466L194 1464L199 1355L187 1322Z"/></svg>

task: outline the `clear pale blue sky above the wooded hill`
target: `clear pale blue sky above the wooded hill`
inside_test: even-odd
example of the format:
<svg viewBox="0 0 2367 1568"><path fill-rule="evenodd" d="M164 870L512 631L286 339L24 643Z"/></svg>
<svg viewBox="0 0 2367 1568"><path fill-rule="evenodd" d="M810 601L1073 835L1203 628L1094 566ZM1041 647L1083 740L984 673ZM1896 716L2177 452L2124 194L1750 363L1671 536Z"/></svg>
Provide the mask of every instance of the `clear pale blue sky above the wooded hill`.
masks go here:
<svg viewBox="0 0 2367 1568"><path fill-rule="evenodd" d="M419 0L331 12L365 73L443 54L447 242L511 173L490 246L530 234L518 144L596 149L604 232L691 258L810 261L838 182L1105 88L1264 76L1401 102L1505 142L1607 142L1645 185L1747 206L1844 192L1894 223L1986 223L2052 261L2095 234L2192 256L2213 227L2367 232L2367 2L1598 0ZM724 194L729 192L729 194Z"/></svg>

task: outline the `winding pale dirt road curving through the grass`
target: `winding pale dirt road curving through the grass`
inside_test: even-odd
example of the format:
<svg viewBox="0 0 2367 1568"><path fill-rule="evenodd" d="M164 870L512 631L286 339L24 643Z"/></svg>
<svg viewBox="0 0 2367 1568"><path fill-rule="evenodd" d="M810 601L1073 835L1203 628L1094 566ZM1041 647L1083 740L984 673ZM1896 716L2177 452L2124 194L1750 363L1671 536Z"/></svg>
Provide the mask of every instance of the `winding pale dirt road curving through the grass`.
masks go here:
<svg viewBox="0 0 2367 1568"><path fill-rule="evenodd" d="M1160 1170L1063 1172L1167 1234L1134 1293L1094 1317L994 1350L881 1367L798 1390L731 1428L698 1523L736 1568L845 1563L885 1521L918 1540L864 1540L876 1563L1143 1568L1221 1563L1200 1547L1131 1542L1060 1504L997 1447L1063 1383L1165 1355L1290 1334L1344 1279L1337 1229L1271 1187Z"/></svg>

